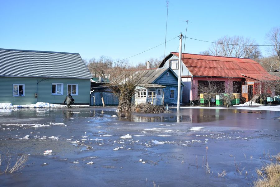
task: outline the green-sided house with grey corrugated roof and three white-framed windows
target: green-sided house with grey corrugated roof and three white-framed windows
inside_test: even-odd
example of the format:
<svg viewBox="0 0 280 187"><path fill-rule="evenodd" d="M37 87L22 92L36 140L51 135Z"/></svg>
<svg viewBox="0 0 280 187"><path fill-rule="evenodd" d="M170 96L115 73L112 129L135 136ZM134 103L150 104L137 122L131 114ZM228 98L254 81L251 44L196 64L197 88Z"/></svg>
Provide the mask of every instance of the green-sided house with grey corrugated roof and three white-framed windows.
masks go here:
<svg viewBox="0 0 280 187"><path fill-rule="evenodd" d="M91 73L78 53L0 49L0 103L90 103Z"/></svg>

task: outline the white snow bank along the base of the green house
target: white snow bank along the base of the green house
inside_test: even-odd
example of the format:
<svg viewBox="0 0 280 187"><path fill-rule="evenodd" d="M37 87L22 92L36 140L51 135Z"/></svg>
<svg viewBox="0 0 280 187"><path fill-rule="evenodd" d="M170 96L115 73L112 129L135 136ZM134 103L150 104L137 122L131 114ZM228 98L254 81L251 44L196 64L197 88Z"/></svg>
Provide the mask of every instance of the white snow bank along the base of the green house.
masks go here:
<svg viewBox="0 0 280 187"><path fill-rule="evenodd" d="M72 105L72 107L88 107L89 105ZM26 105L12 105L12 103L0 103L0 108L40 108L40 107L67 107L63 104L51 104L38 102L36 104L26 104Z"/></svg>

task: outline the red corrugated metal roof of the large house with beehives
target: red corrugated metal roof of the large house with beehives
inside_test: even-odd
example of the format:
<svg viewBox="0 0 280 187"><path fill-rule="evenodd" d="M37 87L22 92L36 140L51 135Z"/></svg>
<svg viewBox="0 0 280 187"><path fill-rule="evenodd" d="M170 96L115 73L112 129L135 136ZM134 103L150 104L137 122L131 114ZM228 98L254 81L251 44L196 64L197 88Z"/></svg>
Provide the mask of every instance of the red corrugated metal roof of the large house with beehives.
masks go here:
<svg viewBox="0 0 280 187"><path fill-rule="evenodd" d="M171 54L179 58L179 53ZM182 61L194 76L244 78L245 74L250 74L250 78L257 80L269 77L264 68L251 59L183 53Z"/></svg>

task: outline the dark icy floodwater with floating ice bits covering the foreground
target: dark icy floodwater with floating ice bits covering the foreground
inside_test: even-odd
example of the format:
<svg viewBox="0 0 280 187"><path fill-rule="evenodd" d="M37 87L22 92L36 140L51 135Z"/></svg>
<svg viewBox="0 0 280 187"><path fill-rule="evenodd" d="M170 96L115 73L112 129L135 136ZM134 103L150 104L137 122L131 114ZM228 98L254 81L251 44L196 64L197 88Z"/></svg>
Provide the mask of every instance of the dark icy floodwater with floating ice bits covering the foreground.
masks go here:
<svg viewBox="0 0 280 187"><path fill-rule="evenodd" d="M29 154L0 186L251 186L280 152L280 111L115 109L0 109L0 172Z"/></svg>

